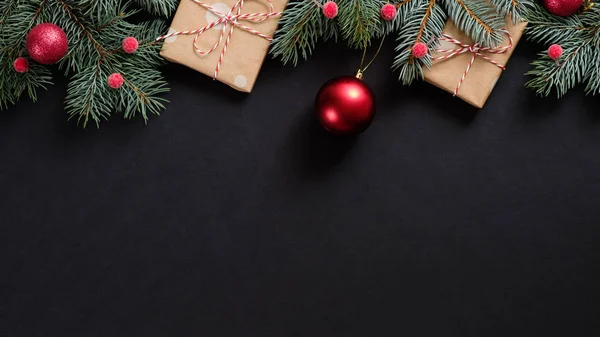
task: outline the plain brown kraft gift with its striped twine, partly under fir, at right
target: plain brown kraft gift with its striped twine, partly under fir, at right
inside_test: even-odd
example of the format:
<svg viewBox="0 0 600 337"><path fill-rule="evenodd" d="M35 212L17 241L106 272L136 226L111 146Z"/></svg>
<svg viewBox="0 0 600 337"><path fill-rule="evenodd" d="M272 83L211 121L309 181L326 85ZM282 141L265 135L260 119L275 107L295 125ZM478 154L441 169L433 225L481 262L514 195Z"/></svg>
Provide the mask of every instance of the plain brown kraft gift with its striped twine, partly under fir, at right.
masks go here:
<svg viewBox="0 0 600 337"><path fill-rule="evenodd" d="M432 55L433 65L429 70L424 69L425 81L482 108L526 25L526 22L514 25L507 18L506 31L510 35L506 34L504 42L496 48L481 48L478 51L477 47L469 50L467 46L473 46L473 40L448 21L440 46Z"/></svg>

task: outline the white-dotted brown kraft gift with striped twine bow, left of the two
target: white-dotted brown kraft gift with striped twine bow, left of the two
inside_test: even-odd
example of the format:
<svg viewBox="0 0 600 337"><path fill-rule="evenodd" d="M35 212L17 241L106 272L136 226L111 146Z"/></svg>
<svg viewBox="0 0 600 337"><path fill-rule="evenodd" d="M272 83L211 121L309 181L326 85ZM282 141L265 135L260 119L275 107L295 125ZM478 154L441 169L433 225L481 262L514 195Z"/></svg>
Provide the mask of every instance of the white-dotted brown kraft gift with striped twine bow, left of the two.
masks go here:
<svg viewBox="0 0 600 337"><path fill-rule="evenodd" d="M169 33L162 37L161 55L250 92L286 5L287 0L181 0Z"/></svg>

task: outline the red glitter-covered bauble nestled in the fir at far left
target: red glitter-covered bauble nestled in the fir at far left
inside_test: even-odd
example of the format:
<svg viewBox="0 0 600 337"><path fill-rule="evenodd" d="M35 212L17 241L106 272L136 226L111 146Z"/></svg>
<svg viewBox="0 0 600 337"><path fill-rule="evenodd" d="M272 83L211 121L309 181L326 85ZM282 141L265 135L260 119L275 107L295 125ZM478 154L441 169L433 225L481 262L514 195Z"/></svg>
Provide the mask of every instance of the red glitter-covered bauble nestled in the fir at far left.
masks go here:
<svg viewBox="0 0 600 337"><path fill-rule="evenodd" d="M41 23L27 35L27 52L41 64L54 64L67 54L69 41L65 32L53 23Z"/></svg>

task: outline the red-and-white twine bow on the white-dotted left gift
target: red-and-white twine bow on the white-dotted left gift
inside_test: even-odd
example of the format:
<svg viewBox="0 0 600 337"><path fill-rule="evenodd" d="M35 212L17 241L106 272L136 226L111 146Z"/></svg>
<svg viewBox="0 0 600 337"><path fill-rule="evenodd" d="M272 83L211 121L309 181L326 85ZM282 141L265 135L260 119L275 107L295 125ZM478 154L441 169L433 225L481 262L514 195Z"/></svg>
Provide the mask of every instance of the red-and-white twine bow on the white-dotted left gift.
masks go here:
<svg viewBox="0 0 600 337"><path fill-rule="evenodd" d="M216 16L218 16L219 19L207 24L206 26L204 26L200 29L183 30L183 31L173 32L173 33L170 33L167 35L160 36L156 40L160 41L160 40L168 39L170 37L177 36L177 35L194 35L194 34L196 34L196 37L194 38L194 50L198 54L205 56L205 55L212 53L215 49L217 49L217 47L223 41L223 37L225 36L225 34L227 32L227 28L229 28L229 33L227 34L227 39L225 40L223 49L221 49L221 55L219 56L219 61L217 62L217 66L215 68L213 79L217 79L219 70L221 69L221 64L223 64L223 58L225 57L225 53L227 52L227 47L229 46L229 42L231 41L231 37L233 36L233 31L234 31L235 27L241 28L241 29L247 31L248 33L254 34L256 36L262 37L263 39L265 39L267 41L273 40L273 38L271 36L265 35L256 29L245 26L245 25L241 24L239 21L250 21L250 22L259 23L259 22L263 22L269 18L272 18L274 16L281 15L281 12L275 12L275 8L273 7L273 3L271 2L271 0L266 0L267 5L269 7L268 13L248 13L248 14L241 14L242 8L244 7L244 0L238 0L233 5L233 7L231 7L229 12L227 12L227 13L222 13L219 10L215 9L214 7L208 5L200 0L192 0L192 1L195 2L196 4L202 6L206 10L212 12ZM198 43L197 43L198 38L200 38L200 35L202 35L207 30L209 30L217 25L220 25L220 24L223 24L223 29L221 30L221 35L219 36L219 40L215 43L215 45L210 50L208 50L208 51L201 50L198 47Z"/></svg>

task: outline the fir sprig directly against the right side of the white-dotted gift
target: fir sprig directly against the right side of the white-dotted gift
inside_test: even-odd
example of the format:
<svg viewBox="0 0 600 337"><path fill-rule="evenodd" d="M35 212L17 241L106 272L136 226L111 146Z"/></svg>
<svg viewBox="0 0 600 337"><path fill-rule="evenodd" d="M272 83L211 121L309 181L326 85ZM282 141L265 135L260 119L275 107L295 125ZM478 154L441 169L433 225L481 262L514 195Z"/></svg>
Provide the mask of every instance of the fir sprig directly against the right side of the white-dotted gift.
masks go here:
<svg viewBox="0 0 600 337"><path fill-rule="evenodd" d="M333 21L325 18L320 8L310 0L290 1L279 27L271 54L281 58L283 64L296 65L300 58L307 59L319 39L337 40Z"/></svg>

